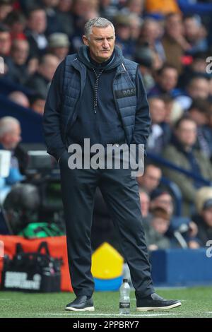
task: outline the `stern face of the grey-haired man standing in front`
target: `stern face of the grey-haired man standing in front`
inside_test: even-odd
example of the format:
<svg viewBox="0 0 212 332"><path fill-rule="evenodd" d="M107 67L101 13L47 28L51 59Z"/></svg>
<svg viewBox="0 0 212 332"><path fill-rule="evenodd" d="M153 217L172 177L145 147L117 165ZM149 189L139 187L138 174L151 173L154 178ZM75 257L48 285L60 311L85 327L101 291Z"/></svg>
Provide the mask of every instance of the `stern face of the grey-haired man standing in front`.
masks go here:
<svg viewBox="0 0 212 332"><path fill-rule="evenodd" d="M83 42L90 49L90 57L101 63L110 59L114 50L114 30L112 26L107 28L93 27L89 39L84 35Z"/></svg>

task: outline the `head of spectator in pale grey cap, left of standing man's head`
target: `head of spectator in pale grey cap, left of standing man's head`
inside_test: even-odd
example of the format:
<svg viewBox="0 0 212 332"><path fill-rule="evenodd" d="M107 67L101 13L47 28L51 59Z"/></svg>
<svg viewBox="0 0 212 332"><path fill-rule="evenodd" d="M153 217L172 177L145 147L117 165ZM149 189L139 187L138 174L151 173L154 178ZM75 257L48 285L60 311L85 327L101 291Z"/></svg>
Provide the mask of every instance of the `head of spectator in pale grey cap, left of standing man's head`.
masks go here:
<svg viewBox="0 0 212 332"><path fill-rule="evenodd" d="M49 53L56 55L59 60L64 60L69 54L69 36L65 33L54 32L49 35Z"/></svg>

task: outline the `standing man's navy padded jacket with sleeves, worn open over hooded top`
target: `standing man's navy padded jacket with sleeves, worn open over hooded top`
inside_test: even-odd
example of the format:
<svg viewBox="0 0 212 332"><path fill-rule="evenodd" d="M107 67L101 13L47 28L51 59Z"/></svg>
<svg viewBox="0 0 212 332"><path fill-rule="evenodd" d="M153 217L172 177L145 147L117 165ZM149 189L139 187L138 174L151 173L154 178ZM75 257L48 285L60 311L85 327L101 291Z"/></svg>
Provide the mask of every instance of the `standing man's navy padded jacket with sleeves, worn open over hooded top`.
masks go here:
<svg viewBox="0 0 212 332"><path fill-rule="evenodd" d="M82 58L82 55L86 58L86 61ZM71 143L78 143L77 141L73 142L74 125L77 124L78 117L82 116L81 98L83 95L86 95L87 98L89 97L89 94L86 94L84 89L88 88L86 86L88 70L94 66L91 62L88 64L87 61L90 61L88 48L83 46L78 54L68 56L61 62L49 88L43 117L43 129L47 143L47 152L54 155L54 158L57 160L67 150L70 140ZM139 66L133 61L124 59L119 47L114 48L114 54L111 61L108 61L107 66L114 71L114 78L110 77L112 81L105 81L103 71L100 80L104 80L105 90L112 85L114 114L116 115L111 121L117 121L119 129L123 129L126 143L146 146L151 118ZM97 100L101 100L101 95L102 93L105 94L105 91L102 92L102 89L95 91L95 87L93 88L93 93L97 93ZM90 100L84 101L88 114L89 112L101 111L101 108L98 107L94 109L94 98L95 95L90 95ZM78 114L79 112L80 114ZM107 112L107 107L102 109L102 114L98 115L101 117L104 112ZM82 133L86 132L84 129L82 127ZM120 130L119 134L122 137L122 130ZM95 137L98 136L96 135Z"/></svg>

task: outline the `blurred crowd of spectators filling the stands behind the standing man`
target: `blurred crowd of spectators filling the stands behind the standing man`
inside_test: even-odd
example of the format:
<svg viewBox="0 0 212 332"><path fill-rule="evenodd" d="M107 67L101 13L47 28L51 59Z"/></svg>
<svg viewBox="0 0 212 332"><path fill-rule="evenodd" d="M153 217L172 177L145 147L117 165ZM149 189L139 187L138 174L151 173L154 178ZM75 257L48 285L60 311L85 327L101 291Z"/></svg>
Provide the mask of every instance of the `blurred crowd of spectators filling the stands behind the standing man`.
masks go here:
<svg viewBox="0 0 212 332"><path fill-rule="evenodd" d="M138 178L149 250L195 249L212 239L211 13L211 1L0 0L0 94L5 82L16 86L8 100L40 117L54 71L83 44L88 19L111 20L124 57L139 63L152 119ZM23 155L16 153L20 131L17 119L2 117L0 109L1 148L15 151L13 172L0 179L1 203L25 179ZM93 247L114 244L112 230L98 191Z"/></svg>

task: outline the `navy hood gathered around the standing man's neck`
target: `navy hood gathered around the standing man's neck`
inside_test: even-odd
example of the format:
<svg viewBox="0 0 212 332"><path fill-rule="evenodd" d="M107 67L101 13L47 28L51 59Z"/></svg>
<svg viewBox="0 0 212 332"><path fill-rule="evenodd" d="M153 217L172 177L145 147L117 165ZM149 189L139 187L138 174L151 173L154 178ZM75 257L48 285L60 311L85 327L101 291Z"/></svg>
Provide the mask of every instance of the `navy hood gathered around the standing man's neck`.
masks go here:
<svg viewBox="0 0 212 332"><path fill-rule="evenodd" d="M83 62L83 64L92 69L104 69L105 71L108 71L110 69L114 69L122 62L124 62L124 57L122 55L122 50L119 49L119 47L115 46L114 51L112 53L112 56L107 61L102 62L101 64L98 64L98 62L95 62L93 59L90 58L89 55L89 48L86 45L83 45L78 50L78 59L79 61Z"/></svg>

